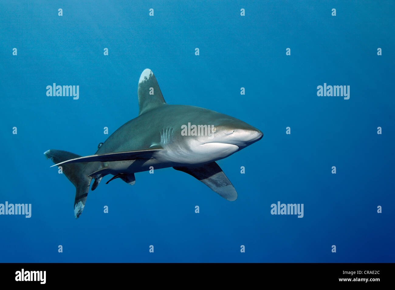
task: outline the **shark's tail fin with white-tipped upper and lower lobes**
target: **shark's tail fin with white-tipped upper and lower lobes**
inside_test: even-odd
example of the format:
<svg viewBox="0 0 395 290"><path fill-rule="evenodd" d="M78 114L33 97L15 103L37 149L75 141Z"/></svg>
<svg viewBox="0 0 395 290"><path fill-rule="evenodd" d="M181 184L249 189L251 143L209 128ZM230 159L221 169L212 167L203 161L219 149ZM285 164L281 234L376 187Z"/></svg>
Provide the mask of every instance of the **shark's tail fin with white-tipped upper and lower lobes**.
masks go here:
<svg viewBox="0 0 395 290"><path fill-rule="evenodd" d="M54 149L44 152L44 155L47 159L51 158L54 163L81 157L71 152ZM85 162L62 165L63 174L74 184L76 189L74 200L74 215L76 219L81 215L84 209L90 181L92 180L92 177L86 176L83 172L85 165L87 165Z"/></svg>

